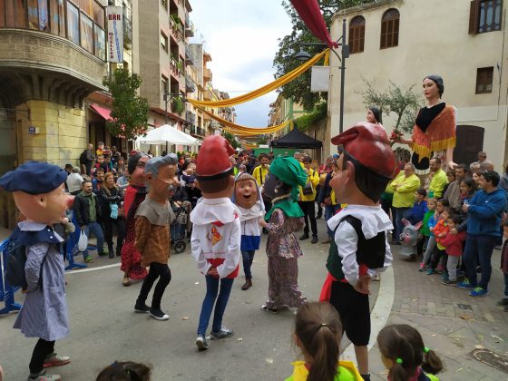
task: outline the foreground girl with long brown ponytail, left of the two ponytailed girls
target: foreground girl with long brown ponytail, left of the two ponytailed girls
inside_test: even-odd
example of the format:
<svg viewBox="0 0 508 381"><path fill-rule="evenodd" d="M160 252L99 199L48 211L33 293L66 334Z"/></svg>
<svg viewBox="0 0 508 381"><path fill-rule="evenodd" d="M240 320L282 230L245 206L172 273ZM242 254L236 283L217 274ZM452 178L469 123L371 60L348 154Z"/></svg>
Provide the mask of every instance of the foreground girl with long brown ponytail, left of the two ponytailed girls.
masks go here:
<svg viewBox="0 0 508 381"><path fill-rule="evenodd" d="M337 310L328 303L306 303L298 308L293 335L305 361L296 361L286 381L362 380L351 361L337 361L342 327Z"/></svg>

